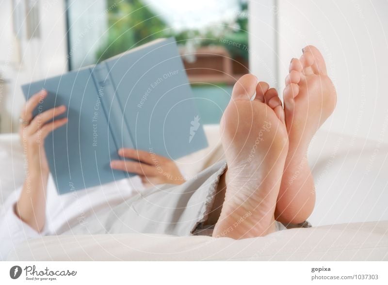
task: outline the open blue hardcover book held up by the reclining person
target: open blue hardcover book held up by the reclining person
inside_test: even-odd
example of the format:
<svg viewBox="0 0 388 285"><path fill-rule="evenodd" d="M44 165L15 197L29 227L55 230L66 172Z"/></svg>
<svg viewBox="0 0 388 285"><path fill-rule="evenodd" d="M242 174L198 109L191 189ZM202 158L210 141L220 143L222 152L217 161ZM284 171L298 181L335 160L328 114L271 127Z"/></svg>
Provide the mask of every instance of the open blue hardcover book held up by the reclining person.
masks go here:
<svg viewBox="0 0 388 285"><path fill-rule="evenodd" d="M47 97L33 115L65 105L67 124L45 139L60 194L130 177L112 170L134 148L177 159L208 143L174 38L159 39L92 66L22 85Z"/></svg>

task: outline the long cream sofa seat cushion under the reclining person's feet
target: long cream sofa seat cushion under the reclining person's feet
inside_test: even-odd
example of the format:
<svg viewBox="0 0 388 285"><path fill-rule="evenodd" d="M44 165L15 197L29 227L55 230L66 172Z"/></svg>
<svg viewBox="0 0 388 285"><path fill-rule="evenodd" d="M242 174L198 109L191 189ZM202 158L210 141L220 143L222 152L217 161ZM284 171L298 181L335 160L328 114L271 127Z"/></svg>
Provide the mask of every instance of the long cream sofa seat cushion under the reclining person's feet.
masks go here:
<svg viewBox="0 0 388 285"><path fill-rule="evenodd" d="M262 238L166 235L81 235L29 240L16 260L300 260L388 261L388 222L337 224L278 231Z"/></svg>

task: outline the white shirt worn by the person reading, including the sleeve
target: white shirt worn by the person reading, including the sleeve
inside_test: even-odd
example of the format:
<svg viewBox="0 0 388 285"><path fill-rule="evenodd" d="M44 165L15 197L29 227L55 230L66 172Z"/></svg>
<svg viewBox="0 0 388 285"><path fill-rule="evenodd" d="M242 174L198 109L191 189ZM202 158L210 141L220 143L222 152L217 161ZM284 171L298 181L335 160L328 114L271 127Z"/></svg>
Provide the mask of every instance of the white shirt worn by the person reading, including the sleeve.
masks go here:
<svg viewBox="0 0 388 285"><path fill-rule="evenodd" d="M22 222L14 212L21 187L5 201L0 212L0 260L4 260L17 244L46 235L60 235L97 212L108 211L144 190L138 176L101 186L59 195L49 175L46 198L46 223L41 233Z"/></svg>

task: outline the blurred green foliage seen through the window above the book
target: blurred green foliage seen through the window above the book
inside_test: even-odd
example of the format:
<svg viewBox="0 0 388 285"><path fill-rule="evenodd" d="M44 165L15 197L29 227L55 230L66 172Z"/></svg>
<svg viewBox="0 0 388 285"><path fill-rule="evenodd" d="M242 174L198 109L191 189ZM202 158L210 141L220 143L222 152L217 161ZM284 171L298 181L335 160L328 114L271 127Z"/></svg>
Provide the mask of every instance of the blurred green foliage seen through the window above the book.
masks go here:
<svg viewBox="0 0 388 285"><path fill-rule="evenodd" d="M248 60L247 3L240 0L240 11L234 23L220 23L207 29L175 32L141 0L107 0L108 36L97 51L103 61L130 48L161 37L174 36L179 44L195 40L197 46L224 46L232 57ZM220 41L226 39L226 43ZM240 47L228 42L240 43ZM243 47L243 48L242 48Z"/></svg>

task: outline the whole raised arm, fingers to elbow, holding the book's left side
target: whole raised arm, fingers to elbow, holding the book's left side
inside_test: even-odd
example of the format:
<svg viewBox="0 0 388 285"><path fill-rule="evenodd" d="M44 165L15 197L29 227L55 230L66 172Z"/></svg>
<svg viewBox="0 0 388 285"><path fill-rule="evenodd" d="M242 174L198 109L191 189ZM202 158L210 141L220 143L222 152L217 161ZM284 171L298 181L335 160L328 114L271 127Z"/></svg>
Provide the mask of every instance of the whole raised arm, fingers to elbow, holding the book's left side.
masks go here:
<svg viewBox="0 0 388 285"><path fill-rule="evenodd" d="M34 118L32 112L47 96L47 91L33 95L20 114L20 140L27 159L26 179L16 202L14 212L23 222L37 232L42 231L46 222L46 188L49 165L44 150L44 141L54 129L66 124L67 118L52 121L66 111L65 106L44 111Z"/></svg>

